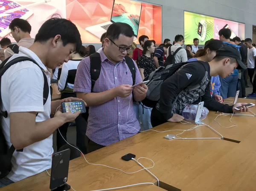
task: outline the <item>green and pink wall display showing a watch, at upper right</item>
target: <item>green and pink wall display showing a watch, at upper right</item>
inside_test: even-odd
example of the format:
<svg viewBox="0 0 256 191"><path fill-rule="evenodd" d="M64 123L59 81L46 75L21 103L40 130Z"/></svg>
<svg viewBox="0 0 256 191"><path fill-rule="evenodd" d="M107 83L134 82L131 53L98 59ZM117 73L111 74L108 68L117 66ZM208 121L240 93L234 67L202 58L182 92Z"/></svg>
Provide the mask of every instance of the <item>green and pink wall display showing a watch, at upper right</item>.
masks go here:
<svg viewBox="0 0 256 191"><path fill-rule="evenodd" d="M200 45L204 45L207 40L212 38L219 39L218 31L222 28L231 30L231 38L238 36L244 39L243 23L184 11L185 44L193 44L194 38L199 39Z"/></svg>

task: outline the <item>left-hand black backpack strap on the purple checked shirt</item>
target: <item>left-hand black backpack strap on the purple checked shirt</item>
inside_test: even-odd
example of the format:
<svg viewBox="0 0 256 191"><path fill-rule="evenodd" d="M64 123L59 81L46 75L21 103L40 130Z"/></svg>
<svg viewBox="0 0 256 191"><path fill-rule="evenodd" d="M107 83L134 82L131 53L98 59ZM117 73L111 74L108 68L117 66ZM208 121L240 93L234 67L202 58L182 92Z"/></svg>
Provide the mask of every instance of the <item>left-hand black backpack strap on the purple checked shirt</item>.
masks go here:
<svg viewBox="0 0 256 191"><path fill-rule="evenodd" d="M90 75L91 75L91 92L93 92L93 87L96 80L99 78L101 71L101 58L98 52L91 54L90 56Z"/></svg>

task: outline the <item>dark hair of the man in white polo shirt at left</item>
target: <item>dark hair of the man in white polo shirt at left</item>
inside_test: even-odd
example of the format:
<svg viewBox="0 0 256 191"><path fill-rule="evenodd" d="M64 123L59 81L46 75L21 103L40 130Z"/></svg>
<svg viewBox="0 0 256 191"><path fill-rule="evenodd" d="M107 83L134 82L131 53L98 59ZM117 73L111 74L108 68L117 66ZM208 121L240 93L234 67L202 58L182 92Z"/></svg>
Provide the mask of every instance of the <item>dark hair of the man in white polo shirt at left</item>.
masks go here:
<svg viewBox="0 0 256 191"><path fill-rule="evenodd" d="M73 43L76 44L76 51L80 50L82 46L80 33L76 25L67 19L51 18L45 21L35 35L35 42L43 43L58 34L61 35L63 46Z"/></svg>

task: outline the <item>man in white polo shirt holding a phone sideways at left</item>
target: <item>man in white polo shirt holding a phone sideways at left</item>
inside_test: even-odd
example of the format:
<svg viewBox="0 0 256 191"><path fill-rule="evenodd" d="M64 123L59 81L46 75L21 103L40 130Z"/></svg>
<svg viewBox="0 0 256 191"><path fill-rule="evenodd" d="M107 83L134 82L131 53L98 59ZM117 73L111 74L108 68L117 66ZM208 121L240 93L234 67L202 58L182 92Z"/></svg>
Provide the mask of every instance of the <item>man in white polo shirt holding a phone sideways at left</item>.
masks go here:
<svg viewBox="0 0 256 191"><path fill-rule="evenodd" d="M24 149L23 152L13 153L12 171L0 179L0 188L51 168L52 133L80 114L62 113L60 105L81 99L66 98L51 102L49 93L47 102L43 104L43 72L50 85L47 67L61 66L80 47L81 37L76 26L69 20L52 18L41 26L30 48L21 46L19 54L10 58L32 58L42 69L31 61L23 61L11 66L2 76L0 109L8 113L7 118L1 117L3 134L9 147L13 145L17 150ZM55 116L50 119L50 114L54 113Z"/></svg>

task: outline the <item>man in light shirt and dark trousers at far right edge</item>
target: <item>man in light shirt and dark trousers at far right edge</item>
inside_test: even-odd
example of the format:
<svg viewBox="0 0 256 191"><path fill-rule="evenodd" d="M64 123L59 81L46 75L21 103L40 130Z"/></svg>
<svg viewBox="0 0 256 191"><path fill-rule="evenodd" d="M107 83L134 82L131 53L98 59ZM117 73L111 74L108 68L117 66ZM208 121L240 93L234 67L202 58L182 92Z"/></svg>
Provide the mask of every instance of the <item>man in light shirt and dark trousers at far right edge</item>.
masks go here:
<svg viewBox="0 0 256 191"><path fill-rule="evenodd" d="M244 45L248 47L247 51L247 67L250 82L253 84L253 92L248 95L248 97L256 97L256 78L253 79L253 74L255 72L255 58L256 58L256 48L252 45L252 40L247 38L244 40Z"/></svg>

